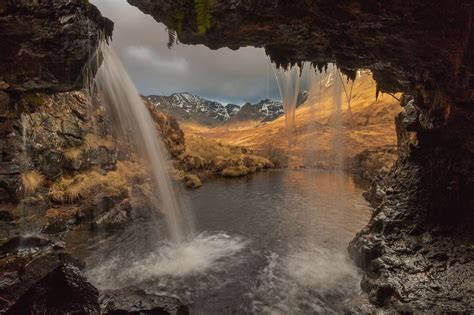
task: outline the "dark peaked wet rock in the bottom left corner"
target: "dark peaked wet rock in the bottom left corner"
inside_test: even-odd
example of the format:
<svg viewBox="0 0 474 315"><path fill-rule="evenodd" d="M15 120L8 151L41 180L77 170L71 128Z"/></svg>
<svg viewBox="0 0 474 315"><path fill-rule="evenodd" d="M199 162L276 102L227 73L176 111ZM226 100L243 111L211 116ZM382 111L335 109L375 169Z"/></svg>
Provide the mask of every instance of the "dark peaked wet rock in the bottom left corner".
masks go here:
<svg viewBox="0 0 474 315"><path fill-rule="evenodd" d="M99 291L64 264L37 282L6 314L100 314Z"/></svg>

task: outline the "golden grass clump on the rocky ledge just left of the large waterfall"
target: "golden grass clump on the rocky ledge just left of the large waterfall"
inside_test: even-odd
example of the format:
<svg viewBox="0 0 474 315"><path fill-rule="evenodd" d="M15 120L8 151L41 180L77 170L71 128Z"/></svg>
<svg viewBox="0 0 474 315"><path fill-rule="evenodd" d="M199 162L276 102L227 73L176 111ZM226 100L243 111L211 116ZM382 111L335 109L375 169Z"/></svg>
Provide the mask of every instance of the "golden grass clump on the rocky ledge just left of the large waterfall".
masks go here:
<svg viewBox="0 0 474 315"><path fill-rule="evenodd" d="M128 187L127 178L119 171L102 175L96 171L78 174L74 177L61 177L49 191L49 196L57 202L72 203L86 199L98 192L107 196L117 196Z"/></svg>

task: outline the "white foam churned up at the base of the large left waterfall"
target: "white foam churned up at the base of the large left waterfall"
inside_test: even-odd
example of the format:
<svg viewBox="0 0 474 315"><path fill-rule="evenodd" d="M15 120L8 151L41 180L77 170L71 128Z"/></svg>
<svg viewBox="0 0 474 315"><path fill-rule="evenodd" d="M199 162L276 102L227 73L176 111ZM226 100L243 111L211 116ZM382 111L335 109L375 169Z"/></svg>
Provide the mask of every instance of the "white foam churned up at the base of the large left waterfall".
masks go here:
<svg viewBox="0 0 474 315"><path fill-rule="evenodd" d="M101 289L138 285L161 278L185 278L217 272L242 251L247 241L227 234L206 235L159 246L143 258L116 256L89 270L88 279ZM235 263L235 261L233 261Z"/></svg>

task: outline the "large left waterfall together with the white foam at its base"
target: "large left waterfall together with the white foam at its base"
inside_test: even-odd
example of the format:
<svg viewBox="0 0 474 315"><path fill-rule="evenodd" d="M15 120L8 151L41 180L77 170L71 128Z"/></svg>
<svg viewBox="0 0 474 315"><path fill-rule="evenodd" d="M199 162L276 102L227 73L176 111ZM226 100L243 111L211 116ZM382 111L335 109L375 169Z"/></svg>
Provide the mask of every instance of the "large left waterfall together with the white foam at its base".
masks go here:
<svg viewBox="0 0 474 315"><path fill-rule="evenodd" d="M100 60L99 60L100 59ZM224 257L232 257L246 246L240 238L224 233L195 235L193 217L177 198L176 188L168 175L167 152L156 132L153 118L129 78L114 49L102 42L93 62L100 67L89 87L91 95L105 105L112 126L122 140L131 142L143 162L158 192L156 208L163 210L169 239L161 239L160 226L155 221L135 223L117 235L113 246L97 248L106 242L104 235L92 235L90 239L98 249L88 257L86 275L99 288L122 287L134 283L154 281L166 277L185 278L205 274ZM139 229L136 226L140 226ZM156 237L155 236L158 236ZM150 242L150 236L152 237ZM139 240L139 241L138 241ZM130 243L133 246L124 249ZM144 273L144 270L149 272ZM133 280L132 280L133 279Z"/></svg>

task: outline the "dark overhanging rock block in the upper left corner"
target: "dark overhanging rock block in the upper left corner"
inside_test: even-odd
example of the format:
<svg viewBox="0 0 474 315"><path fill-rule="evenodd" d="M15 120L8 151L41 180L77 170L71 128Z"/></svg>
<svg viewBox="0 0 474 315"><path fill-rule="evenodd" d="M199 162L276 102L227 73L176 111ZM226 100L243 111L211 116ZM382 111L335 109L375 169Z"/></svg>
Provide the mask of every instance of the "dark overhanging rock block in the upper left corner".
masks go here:
<svg viewBox="0 0 474 315"><path fill-rule="evenodd" d="M89 1L0 3L0 89L68 91L113 23Z"/></svg>

